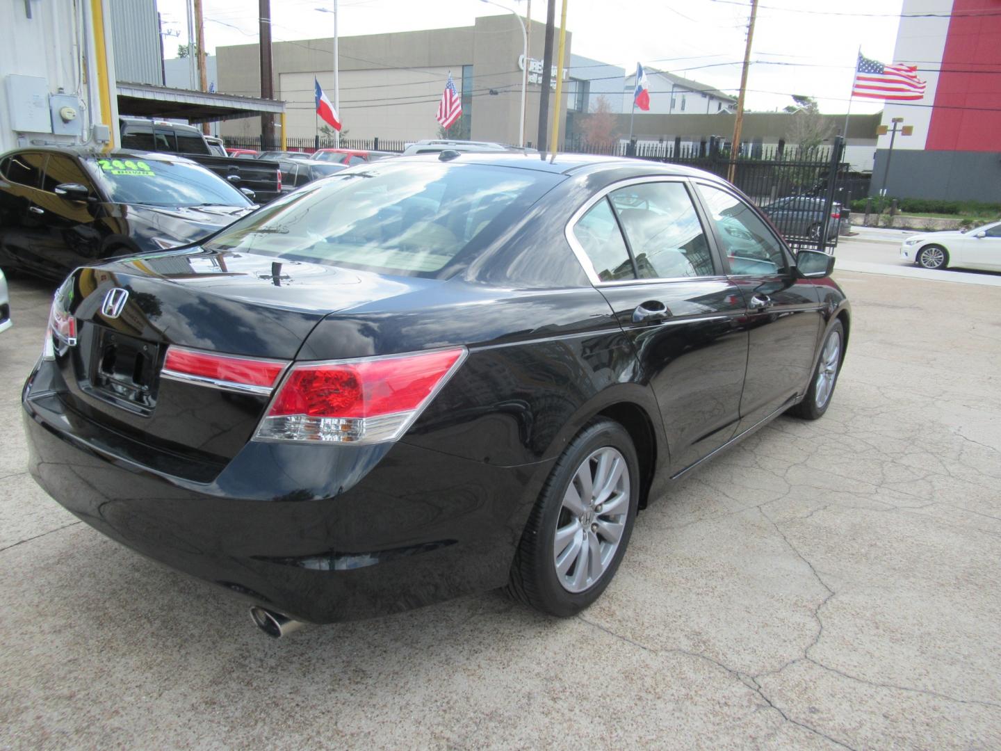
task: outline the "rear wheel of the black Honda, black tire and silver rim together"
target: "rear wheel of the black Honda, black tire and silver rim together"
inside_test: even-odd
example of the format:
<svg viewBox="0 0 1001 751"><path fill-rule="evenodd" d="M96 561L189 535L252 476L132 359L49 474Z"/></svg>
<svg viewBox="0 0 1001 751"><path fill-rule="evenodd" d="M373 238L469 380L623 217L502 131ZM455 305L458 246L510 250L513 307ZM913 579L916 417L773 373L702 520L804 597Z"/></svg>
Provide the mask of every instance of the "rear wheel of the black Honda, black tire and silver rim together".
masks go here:
<svg viewBox="0 0 1001 751"><path fill-rule="evenodd" d="M626 554L640 463L626 429L595 419L557 461L526 524L506 591L568 617L595 602Z"/></svg>

